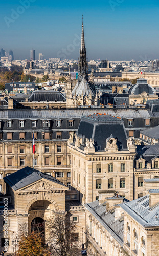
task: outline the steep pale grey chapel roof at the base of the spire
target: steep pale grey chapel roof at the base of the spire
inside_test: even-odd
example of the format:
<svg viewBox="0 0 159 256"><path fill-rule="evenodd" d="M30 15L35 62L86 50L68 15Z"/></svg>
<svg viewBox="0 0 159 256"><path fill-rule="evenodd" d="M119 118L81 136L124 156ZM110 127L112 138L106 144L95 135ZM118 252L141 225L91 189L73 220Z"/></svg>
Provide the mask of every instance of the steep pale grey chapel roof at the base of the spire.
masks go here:
<svg viewBox="0 0 159 256"><path fill-rule="evenodd" d="M76 83L76 86L72 91L72 95L75 95L75 93L76 93L76 96L81 96L82 93L83 93L83 96L89 96L90 93L92 96L95 96L94 91L90 87L90 84L88 83L85 77L82 78L81 82L78 81Z"/></svg>

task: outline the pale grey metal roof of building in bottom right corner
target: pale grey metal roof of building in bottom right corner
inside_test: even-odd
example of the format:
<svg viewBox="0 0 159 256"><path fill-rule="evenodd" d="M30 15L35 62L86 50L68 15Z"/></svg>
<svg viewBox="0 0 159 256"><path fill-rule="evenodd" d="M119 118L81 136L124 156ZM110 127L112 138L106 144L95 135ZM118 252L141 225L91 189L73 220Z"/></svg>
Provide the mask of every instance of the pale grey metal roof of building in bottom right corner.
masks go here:
<svg viewBox="0 0 159 256"><path fill-rule="evenodd" d="M153 191L149 191L150 193L153 193ZM149 195L135 199L128 203L119 204L119 206L143 227L159 226L159 203L155 206L149 207Z"/></svg>

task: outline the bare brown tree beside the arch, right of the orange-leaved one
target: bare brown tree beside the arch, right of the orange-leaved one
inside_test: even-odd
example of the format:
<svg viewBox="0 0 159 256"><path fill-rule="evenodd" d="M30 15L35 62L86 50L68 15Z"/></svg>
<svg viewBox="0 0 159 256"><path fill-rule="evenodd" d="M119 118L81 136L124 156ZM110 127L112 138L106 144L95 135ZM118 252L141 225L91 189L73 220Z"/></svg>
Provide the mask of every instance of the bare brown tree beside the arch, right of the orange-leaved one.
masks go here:
<svg viewBox="0 0 159 256"><path fill-rule="evenodd" d="M48 230L48 242L53 248L53 253L60 256L79 255L78 234L76 225L70 220L69 214L55 212L51 219L46 220Z"/></svg>

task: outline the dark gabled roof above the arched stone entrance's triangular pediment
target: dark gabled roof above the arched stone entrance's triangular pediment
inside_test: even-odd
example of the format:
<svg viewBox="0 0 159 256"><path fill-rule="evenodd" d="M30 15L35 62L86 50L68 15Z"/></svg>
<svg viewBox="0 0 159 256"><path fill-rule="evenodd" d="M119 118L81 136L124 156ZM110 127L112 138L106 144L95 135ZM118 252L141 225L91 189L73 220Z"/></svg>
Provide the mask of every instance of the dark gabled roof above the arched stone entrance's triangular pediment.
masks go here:
<svg viewBox="0 0 159 256"><path fill-rule="evenodd" d="M41 180L42 178L66 187L53 176L41 173L39 170L35 170L28 166L17 170L17 172L10 174L3 179L10 187L12 187L13 190L16 191L22 187L32 184L33 182Z"/></svg>

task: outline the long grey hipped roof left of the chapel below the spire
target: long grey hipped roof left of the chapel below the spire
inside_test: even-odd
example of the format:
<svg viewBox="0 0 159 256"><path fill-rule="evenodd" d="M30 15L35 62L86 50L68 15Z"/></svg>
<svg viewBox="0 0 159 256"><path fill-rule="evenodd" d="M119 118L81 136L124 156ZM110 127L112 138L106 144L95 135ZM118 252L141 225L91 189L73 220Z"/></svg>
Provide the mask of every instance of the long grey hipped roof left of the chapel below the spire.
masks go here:
<svg viewBox="0 0 159 256"><path fill-rule="evenodd" d="M37 102L38 100L45 102L47 100L49 101L66 101L66 98L63 96L62 93L58 91L53 91L53 90L37 90L34 91L30 97L29 101L35 101Z"/></svg>

